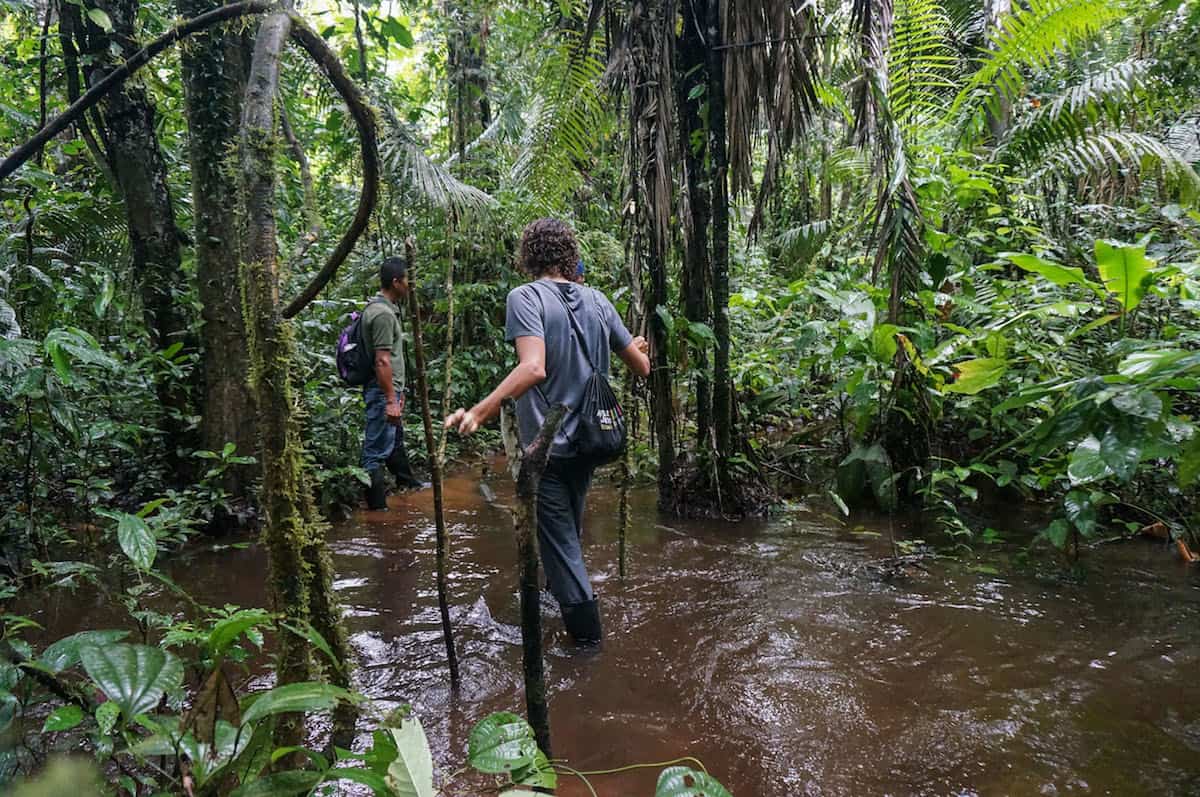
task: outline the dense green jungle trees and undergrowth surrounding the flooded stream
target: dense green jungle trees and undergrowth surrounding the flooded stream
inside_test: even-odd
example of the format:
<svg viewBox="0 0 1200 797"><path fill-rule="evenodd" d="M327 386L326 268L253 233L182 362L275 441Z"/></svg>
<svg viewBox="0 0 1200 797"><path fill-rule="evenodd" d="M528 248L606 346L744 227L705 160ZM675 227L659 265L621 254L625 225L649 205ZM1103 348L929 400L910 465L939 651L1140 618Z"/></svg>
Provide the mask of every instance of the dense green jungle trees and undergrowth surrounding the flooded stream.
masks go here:
<svg viewBox="0 0 1200 797"><path fill-rule="evenodd" d="M97 762L19 793L433 793L414 719L305 747L365 711L332 356L406 239L437 419L514 361L521 228L572 224L652 343L608 475L665 513L894 513L1064 569L1200 541L1200 2L222 2L0 0L0 601L128 618L47 645L5 610L0 783ZM989 509L1018 501L1032 537ZM248 531L270 610L158 569ZM235 694L264 646L275 688ZM565 774L478 719L504 793ZM726 793L688 767L659 795Z"/></svg>

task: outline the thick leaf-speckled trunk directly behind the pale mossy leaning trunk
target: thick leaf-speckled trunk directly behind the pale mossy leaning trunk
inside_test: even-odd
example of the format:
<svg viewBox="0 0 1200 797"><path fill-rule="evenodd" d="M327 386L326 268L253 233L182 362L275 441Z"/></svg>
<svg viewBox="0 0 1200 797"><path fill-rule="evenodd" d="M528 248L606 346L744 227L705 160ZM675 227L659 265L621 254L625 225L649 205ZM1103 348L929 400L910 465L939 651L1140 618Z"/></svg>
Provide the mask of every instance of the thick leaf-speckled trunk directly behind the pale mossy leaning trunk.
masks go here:
<svg viewBox="0 0 1200 797"><path fill-rule="evenodd" d="M221 6L222 0L176 0L184 18ZM238 23L196 34L181 49L180 61L192 163L196 281L204 320L200 439L210 451L233 443L239 453L253 454L254 407L246 382L250 366L239 282L242 220L238 173L228 166L238 144L253 46L251 35L240 29ZM257 467L230 468L224 478L226 491L246 497L256 472Z"/></svg>

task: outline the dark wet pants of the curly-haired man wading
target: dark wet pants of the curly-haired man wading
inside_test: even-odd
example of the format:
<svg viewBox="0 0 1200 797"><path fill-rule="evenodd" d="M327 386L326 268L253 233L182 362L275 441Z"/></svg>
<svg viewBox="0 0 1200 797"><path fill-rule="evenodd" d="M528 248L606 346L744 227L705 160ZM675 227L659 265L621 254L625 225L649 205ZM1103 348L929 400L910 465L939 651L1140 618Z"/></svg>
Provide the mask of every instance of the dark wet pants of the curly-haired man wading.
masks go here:
<svg viewBox="0 0 1200 797"><path fill-rule="evenodd" d="M583 507L595 468L570 459L552 459L538 489L538 543L550 591L563 606L592 600L583 565Z"/></svg>

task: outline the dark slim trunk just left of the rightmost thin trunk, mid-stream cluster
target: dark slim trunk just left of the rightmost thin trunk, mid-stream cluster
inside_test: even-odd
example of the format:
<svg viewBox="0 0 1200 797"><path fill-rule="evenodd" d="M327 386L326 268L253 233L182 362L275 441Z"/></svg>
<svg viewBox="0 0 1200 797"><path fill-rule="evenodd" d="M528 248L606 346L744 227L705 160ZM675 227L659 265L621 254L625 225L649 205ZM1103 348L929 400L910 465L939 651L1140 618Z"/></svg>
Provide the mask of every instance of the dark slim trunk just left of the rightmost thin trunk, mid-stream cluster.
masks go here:
<svg viewBox="0 0 1200 797"><path fill-rule="evenodd" d="M704 86L707 79L704 42L700 36L695 6L691 2L682 5L683 25L679 31L678 66L676 74L676 103L679 108L679 150L683 154L684 185L686 211L683 215L684 228L684 269L683 302L684 316L689 322L712 324L712 305L709 302L708 283L710 265L708 259L708 233L712 227L709 206L709 187L704 185L704 158L708 146L704 139L704 124L700 118L703 96L691 97L697 86ZM708 354L706 349L696 349L696 444L700 450L712 447L712 382L708 377Z"/></svg>

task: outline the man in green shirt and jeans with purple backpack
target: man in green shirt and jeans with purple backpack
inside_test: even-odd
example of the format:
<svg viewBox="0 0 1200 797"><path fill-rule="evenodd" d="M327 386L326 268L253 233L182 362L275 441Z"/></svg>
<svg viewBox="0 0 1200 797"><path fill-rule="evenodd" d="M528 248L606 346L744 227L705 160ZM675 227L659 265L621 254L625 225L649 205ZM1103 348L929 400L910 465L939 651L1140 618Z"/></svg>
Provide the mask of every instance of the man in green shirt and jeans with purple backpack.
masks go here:
<svg viewBox="0 0 1200 797"><path fill-rule="evenodd" d="M379 268L379 293L362 310L362 336L374 353L374 373L362 386L367 421L362 467L371 475L367 509L388 509L384 468L398 487L421 487L404 450L404 332L400 301L408 295L408 264L390 257Z"/></svg>

